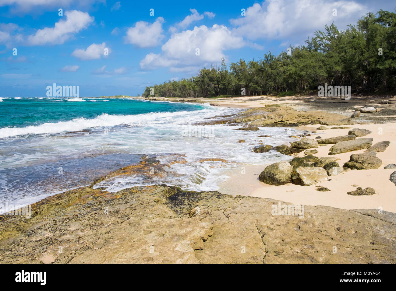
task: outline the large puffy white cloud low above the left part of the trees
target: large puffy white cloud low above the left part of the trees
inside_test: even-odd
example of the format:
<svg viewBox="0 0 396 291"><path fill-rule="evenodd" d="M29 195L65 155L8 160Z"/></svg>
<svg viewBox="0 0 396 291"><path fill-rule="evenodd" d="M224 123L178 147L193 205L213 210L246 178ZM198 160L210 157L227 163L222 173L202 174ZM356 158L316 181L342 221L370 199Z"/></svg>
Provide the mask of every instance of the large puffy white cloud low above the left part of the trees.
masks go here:
<svg viewBox="0 0 396 291"><path fill-rule="evenodd" d="M223 51L245 46L243 38L234 36L223 25L213 27L194 27L175 33L161 47L159 54L149 53L141 60L140 68L151 70L158 67L170 67L172 72L192 71L210 63L219 62L225 57ZM196 55L196 49L200 54Z"/></svg>

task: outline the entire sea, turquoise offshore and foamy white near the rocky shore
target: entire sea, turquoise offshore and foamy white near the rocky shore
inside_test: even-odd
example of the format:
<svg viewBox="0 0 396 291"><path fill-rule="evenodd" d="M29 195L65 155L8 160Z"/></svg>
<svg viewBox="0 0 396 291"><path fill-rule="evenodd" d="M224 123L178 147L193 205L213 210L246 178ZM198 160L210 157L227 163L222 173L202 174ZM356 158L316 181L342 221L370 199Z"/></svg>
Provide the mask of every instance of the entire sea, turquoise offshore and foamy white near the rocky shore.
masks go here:
<svg viewBox="0 0 396 291"><path fill-rule="evenodd" d="M116 192L132 186L168 184L185 190L217 190L228 179L227 171L242 164L289 159L278 152L253 153L254 145L288 144L293 141L289 135L301 133L284 127L234 131L237 127L223 124L193 126L209 117L242 111L209 104L104 98L0 100L3 205L27 205L89 185L121 167L138 164L145 155L166 165L163 175L116 176L95 187ZM240 139L246 142L238 143ZM175 154L184 162L169 163Z"/></svg>

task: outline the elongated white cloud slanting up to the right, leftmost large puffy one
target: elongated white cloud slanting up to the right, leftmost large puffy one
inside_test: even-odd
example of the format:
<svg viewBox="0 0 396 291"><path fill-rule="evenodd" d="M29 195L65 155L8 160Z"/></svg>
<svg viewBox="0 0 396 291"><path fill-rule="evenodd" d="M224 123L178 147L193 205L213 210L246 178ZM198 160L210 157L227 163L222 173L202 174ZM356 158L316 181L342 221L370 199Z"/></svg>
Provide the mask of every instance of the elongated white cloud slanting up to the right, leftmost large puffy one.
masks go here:
<svg viewBox="0 0 396 291"><path fill-rule="evenodd" d="M36 34L30 35L28 43L32 46L40 46L44 44L63 44L83 29L88 28L94 21L94 17L88 13L71 10L65 12L66 20L59 20L55 23L55 27L37 30Z"/></svg>

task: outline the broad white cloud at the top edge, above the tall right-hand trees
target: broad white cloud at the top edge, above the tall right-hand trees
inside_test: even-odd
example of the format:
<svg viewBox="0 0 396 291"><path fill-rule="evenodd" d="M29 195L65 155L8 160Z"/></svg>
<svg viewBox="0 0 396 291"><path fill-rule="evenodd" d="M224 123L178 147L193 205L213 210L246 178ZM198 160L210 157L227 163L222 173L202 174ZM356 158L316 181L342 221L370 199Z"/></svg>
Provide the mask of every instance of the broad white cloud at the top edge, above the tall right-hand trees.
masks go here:
<svg viewBox="0 0 396 291"><path fill-rule="evenodd" d="M337 16L333 16L333 9ZM247 8L246 16L230 19L234 32L250 40L286 38L323 29L333 21L346 26L359 19L366 8L349 0L267 0Z"/></svg>

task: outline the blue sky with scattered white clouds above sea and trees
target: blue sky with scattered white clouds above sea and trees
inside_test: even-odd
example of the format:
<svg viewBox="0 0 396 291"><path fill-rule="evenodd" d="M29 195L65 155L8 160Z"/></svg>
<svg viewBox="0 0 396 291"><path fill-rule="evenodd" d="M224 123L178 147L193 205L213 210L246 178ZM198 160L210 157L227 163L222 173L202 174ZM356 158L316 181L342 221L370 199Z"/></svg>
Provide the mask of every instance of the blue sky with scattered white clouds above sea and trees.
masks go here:
<svg viewBox="0 0 396 291"><path fill-rule="evenodd" d="M137 96L200 68L278 55L394 0L0 0L0 97Z"/></svg>

